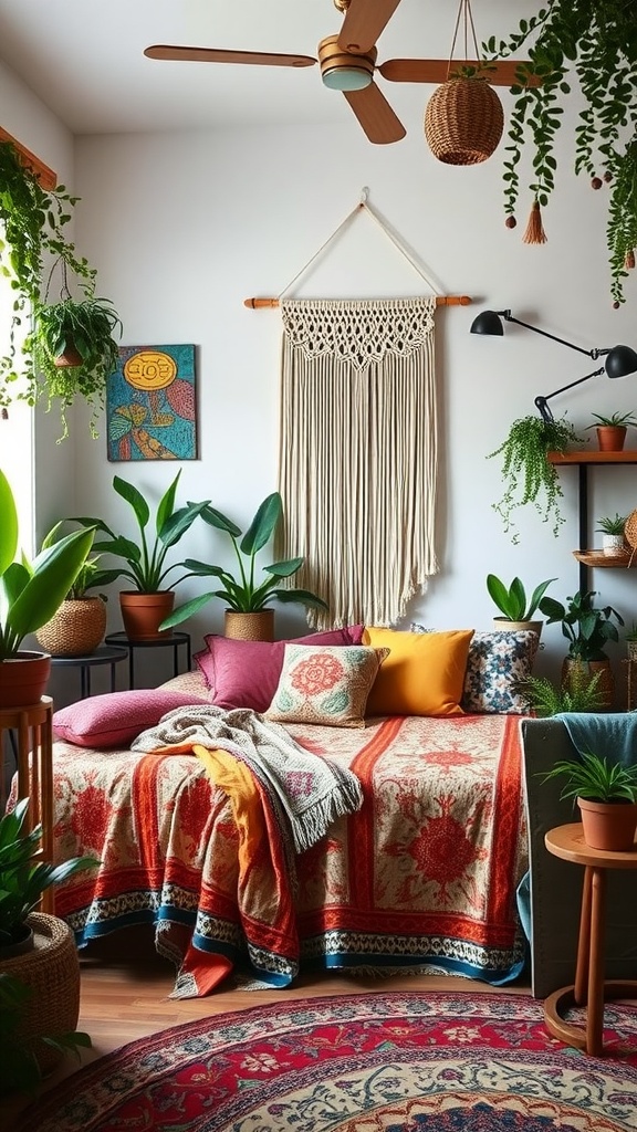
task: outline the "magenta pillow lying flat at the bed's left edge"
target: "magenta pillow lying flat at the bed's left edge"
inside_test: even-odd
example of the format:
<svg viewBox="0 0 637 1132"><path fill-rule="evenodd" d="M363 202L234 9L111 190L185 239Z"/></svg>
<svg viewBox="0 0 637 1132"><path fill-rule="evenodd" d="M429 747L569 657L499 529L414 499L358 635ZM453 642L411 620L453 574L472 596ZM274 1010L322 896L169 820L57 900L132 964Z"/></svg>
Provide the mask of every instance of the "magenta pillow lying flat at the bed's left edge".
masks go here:
<svg viewBox="0 0 637 1132"><path fill-rule="evenodd" d="M53 712L53 731L58 739L78 747L126 746L147 727L155 727L168 711L195 703L210 701L164 688L105 692Z"/></svg>

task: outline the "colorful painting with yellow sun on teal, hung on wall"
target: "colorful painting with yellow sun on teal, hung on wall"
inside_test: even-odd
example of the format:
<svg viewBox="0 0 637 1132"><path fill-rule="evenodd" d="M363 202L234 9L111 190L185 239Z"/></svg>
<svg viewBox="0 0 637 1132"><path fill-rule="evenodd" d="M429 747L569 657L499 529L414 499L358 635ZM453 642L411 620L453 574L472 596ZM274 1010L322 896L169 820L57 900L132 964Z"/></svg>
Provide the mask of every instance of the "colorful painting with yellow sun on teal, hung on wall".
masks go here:
<svg viewBox="0 0 637 1132"><path fill-rule="evenodd" d="M194 345L120 346L107 381L109 460L196 460Z"/></svg>

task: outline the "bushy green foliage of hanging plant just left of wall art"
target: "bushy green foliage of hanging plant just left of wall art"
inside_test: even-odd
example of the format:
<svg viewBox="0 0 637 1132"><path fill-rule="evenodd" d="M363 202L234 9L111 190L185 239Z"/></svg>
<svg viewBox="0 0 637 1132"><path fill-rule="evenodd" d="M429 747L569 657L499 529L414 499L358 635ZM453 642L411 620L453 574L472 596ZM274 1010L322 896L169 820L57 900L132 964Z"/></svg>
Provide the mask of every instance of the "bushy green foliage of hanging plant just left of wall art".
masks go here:
<svg viewBox="0 0 637 1132"><path fill-rule="evenodd" d="M63 434L68 436L67 409L80 395L92 405L91 432L95 438L96 415L104 406L107 379L119 360L119 348L113 337L121 335L121 320L110 299L87 294L76 301L65 298L56 303L39 303L35 308L34 331L26 340L33 354L49 402L60 400ZM56 366L56 359L68 348L75 346L82 358L78 366Z"/></svg>

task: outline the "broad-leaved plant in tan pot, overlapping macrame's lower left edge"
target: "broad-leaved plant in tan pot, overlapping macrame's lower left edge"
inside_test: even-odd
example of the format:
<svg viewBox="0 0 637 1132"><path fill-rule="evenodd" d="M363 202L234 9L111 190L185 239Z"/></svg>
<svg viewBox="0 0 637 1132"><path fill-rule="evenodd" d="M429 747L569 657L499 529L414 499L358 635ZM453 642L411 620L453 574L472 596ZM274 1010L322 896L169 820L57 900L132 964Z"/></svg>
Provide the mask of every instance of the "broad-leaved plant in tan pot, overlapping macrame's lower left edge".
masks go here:
<svg viewBox="0 0 637 1132"><path fill-rule="evenodd" d="M193 598L167 618L164 625L175 626L196 614L211 598L221 598L226 602L226 636L249 641L274 640L274 610L270 608L272 600L281 602L300 602L316 609L326 609L322 598L308 590L289 590L281 586L281 580L292 577L303 566L303 558L289 558L286 561L263 566L269 577L265 581L255 578L256 556L273 538L283 514L283 504L278 491L269 495L260 505L246 533L214 507L205 506L202 518L219 531L230 537L237 563L238 575L235 576L224 566L211 566L209 563L186 559L185 566L199 577L218 577L221 589ZM240 541L239 541L240 539Z"/></svg>

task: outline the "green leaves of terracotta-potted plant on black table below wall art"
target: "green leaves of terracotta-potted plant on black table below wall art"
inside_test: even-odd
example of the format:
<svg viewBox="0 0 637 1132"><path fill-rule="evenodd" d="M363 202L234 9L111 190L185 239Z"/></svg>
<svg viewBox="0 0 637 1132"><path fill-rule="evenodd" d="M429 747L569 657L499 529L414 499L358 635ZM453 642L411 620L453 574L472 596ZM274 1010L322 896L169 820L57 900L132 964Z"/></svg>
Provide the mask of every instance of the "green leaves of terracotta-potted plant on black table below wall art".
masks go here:
<svg viewBox="0 0 637 1132"><path fill-rule="evenodd" d="M131 507L139 538L137 542L117 534L101 518L77 517L74 520L83 526L95 528L99 532L107 534L107 539L99 539L94 543L94 550L100 554L113 555L120 558L126 565L118 567L113 576L126 577L133 583L133 588L139 593L156 593L159 590L175 590L180 582L187 577L193 577L198 571L188 569L188 564L184 561L165 565L169 550L190 530L197 515L201 515L210 500L203 503L189 503L186 507L175 507L177 484L181 471L178 471L172 483L159 501L154 518L154 535L148 537L147 528L151 522L151 508L146 499L128 480L119 475L113 477L113 488L117 494ZM178 568L186 568L187 573L179 578L168 583L168 575Z"/></svg>

